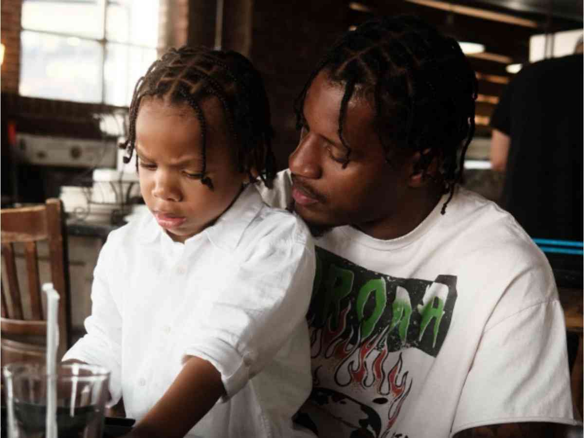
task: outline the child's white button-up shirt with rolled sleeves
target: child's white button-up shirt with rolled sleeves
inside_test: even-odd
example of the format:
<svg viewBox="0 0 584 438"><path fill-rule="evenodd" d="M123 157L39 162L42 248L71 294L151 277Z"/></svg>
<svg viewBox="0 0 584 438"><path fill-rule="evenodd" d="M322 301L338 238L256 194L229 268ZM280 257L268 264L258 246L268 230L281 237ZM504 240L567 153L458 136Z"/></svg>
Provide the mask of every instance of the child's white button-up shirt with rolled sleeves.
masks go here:
<svg viewBox="0 0 584 438"><path fill-rule="evenodd" d="M190 431L212 437L302 435L291 417L311 390L305 321L314 244L295 215L249 186L212 226L173 242L150 213L110 233L87 334L65 354L112 371L112 398L140 419L185 356L220 371L227 396Z"/></svg>

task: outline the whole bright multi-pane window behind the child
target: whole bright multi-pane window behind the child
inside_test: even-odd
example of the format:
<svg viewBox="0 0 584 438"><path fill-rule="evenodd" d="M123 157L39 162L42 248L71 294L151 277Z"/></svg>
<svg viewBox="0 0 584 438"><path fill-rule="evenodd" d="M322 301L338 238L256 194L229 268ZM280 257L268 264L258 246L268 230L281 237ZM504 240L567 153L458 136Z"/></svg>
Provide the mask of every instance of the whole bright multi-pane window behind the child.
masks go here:
<svg viewBox="0 0 584 438"><path fill-rule="evenodd" d="M24 0L19 93L128 106L157 57L159 0Z"/></svg>

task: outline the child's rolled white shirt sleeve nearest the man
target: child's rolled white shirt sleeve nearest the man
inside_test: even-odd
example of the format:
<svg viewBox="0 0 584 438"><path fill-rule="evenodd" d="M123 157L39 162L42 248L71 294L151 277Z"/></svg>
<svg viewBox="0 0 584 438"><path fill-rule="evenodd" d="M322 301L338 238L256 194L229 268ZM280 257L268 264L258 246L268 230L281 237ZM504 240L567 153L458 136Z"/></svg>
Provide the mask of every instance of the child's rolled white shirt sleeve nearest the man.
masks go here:
<svg viewBox="0 0 584 438"><path fill-rule="evenodd" d="M281 213L284 216L284 213ZM246 248L246 258L218 279L204 304L203 318L186 325L185 356L210 361L221 373L227 401L305 328L315 273L314 244L284 223ZM302 224L303 230L305 229ZM308 339L308 338L307 338ZM307 351L308 354L308 351Z"/></svg>

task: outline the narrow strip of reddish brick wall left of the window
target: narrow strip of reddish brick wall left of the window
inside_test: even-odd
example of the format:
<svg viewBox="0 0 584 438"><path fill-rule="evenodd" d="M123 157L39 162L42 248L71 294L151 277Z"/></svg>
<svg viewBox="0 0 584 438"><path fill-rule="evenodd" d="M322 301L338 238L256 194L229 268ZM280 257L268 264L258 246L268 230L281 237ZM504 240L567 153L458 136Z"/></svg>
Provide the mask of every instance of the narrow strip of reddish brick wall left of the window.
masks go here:
<svg viewBox="0 0 584 438"><path fill-rule="evenodd" d="M22 0L2 0L0 2L2 33L0 40L4 44L4 61L2 61L2 92L18 93L20 75L20 11Z"/></svg>

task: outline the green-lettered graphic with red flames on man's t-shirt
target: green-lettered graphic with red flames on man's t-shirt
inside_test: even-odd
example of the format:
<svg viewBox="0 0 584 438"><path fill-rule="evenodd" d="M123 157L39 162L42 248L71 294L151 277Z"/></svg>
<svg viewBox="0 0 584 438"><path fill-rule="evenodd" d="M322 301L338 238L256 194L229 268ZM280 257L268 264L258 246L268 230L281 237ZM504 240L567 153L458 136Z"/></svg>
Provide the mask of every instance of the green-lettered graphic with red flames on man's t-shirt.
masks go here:
<svg viewBox="0 0 584 438"><path fill-rule="evenodd" d="M317 247L308 405L326 411L322 427L331 430L333 422L345 436L406 438L392 426L415 385L408 350L436 357L456 298L456 276L392 277ZM299 421L318 432L310 412L303 410Z"/></svg>

